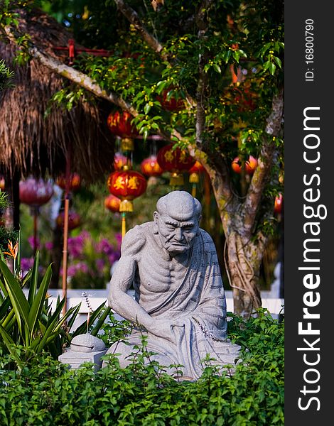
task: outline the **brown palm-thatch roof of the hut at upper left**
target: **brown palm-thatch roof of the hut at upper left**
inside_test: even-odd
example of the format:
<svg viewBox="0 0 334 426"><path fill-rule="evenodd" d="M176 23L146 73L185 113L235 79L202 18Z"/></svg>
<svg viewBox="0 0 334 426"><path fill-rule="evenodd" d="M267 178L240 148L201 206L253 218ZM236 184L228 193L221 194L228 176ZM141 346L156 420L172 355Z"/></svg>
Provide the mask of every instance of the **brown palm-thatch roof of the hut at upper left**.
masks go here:
<svg viewBox="0 0 334 426"><path fill-rule="evenodd" d="M66 46L71 34L41 11L20 11L20 31L33 43L59 58L55 46ZM82 100L70 111L53 107L45 117L50 97L68 82L36 60L17 67L16 46L0 40L0 58L15 72L14 89L0 93L0 170L57 177L65 171L71 153L71 170L92 182L112 170L114 140L107 129L108 107Z"/></svg>

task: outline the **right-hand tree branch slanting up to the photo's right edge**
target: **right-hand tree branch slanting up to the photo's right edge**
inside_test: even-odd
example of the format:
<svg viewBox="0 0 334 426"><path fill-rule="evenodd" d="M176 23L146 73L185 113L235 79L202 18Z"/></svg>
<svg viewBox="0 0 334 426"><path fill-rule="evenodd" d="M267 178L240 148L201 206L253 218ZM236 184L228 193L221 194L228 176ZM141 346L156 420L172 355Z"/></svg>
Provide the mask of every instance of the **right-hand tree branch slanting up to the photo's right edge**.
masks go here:
<svg viewBox="0 0 334 426"><path fill-rule="evenodd" d="M266 120L266 133L268 136L262 146L262 150L259 155L259 163L254 171L252 181L250 182L247 191L246 200L244 202L243 216L245 236L250 236L252 234L252 228L259 209L262 192L266 185L271 165L273 164L276 146L274 141L272 141L272 137L279 136L283 116L283 106L283 89L281 89L280 92L273 97L271 114Z"/></svg>

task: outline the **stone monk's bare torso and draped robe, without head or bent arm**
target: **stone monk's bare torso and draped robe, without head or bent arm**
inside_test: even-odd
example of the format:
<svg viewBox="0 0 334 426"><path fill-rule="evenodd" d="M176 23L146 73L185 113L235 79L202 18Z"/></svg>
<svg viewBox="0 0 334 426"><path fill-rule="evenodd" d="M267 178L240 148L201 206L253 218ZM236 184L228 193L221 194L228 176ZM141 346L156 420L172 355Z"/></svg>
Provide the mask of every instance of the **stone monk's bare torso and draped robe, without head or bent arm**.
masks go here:
<svg viewBox="0 0 334 426"><path fill-rule="evenodd" d="M217 261L215 245L209 234L200 229L188 258L180 263L163 253L153 222L132 229L136 252L136 271L132 284L135 299L151 317L171 322L173 342L147 335L147 350L163 366L181 364L184 376L198 378L203 372L207 354L218 364L235 364L239 346L227 341L226 300ZM122 353L121 366L129 364L126 357L134 344L141 344L135 329L129 346L114 344L109 353Z"/></svg>

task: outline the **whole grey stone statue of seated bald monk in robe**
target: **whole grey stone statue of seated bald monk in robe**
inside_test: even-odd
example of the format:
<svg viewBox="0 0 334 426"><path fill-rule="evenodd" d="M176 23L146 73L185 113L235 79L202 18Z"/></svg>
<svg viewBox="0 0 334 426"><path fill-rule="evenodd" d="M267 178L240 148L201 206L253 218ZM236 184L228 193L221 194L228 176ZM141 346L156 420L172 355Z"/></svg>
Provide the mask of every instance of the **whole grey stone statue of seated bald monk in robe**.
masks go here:
<svg viewBox="0 0 334 426"><path fill-rule="evenodd" d="M227 340L226 300L215 245L200 229L201 205L188 192L173 191L156 204L153 222L134 226L122 241L112 275L109 306L140 324L128 343L113 344L128 365L134 345L147 336L151 359L163 366L182 364L197 379L207 354L217 364L235 364L240 347ZM133 285L135 299L126 292ZM166 370L171 373L172 370ZM174 369L175 371L175 369Z"/></svg>

